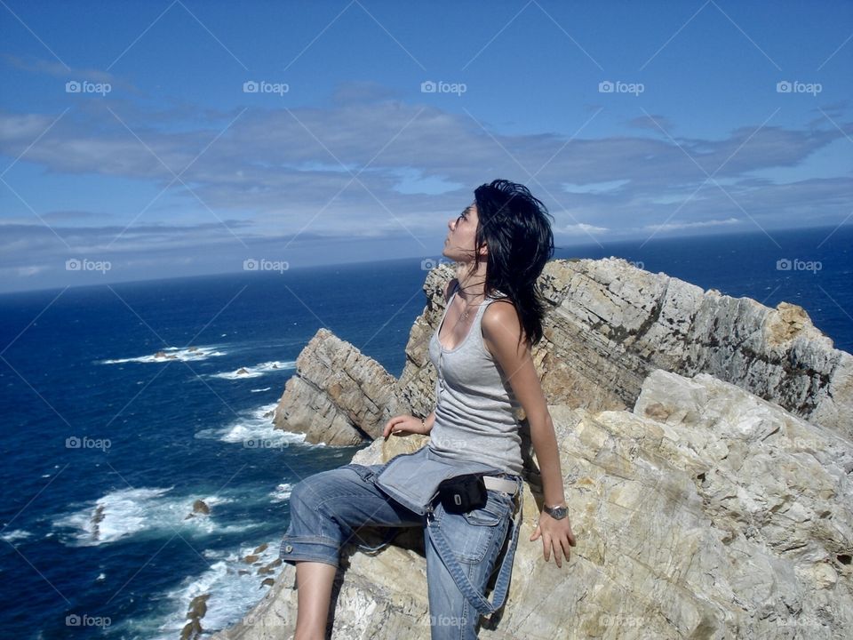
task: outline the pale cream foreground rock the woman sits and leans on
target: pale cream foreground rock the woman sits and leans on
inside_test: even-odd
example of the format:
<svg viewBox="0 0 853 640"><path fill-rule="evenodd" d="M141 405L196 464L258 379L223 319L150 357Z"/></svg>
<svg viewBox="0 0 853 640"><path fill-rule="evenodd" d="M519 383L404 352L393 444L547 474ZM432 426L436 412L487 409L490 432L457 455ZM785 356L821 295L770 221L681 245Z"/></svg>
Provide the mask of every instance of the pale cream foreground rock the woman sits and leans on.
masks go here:
<svg viewBox="0 0 853 640"><path fill-rule="evenodd" d="M578 546L561 570L530 542L531 466L508 602L480 637L828 638L853 624L853 444L833 429L713 376L661 370L631 412L549 411ZM384 460L386 444L362 460ZM396 543L345 551L331 637L426 640L423 556ZM215 637L287 637L296 598L284 564L251 627Z"/></svg>

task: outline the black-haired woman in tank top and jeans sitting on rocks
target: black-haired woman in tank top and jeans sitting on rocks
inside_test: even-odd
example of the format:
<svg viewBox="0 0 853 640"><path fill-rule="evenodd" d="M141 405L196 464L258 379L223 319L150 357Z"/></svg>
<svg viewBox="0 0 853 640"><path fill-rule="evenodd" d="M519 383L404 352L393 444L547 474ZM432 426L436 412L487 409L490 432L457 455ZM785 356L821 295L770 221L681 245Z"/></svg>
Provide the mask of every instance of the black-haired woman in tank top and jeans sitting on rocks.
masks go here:
<svg viewBox="0 0 853 640"><path fill-rule="evenodd" d="M284 562L296 564L296 640L324 637L339 547L363 524L423 526L432 637L476 637L480 612L495 606L485 608L489 603L482 593L506 540L514 498L522 494L514 415L519 406L530 423L544 490L544 508L530 540L542 540L546 562L552 554L557 566L562 567L563 556L569 560L576 543L554 426L530 356L542 337L544 314L535 285L554 252L547 215L523 185L494 180L475 189L474 203L449 221L442 253L456 261L457 277L445 287L447 306L429 345L438 372L436 407L426 419L395 416L383 431L386 439L430 435L430 443L414 455L423 453L435 465L455 469L456 479L483 476L485 503L451 512L456 509L443 492L424 515L416 510L417 500L391 498L379 488L385 486L379 476L392 463L405 462L404 456L384 466L346 465L297 484L281 552ZM411 477L412 490L423 489L426 476ZM458 505L459 493L453 499ZM517 519L520 524L521 514ZM506 551L509 570L518 524ZM508 573L502 572L498 583L506 588ZM502 602L501 597L496 605Z"/></svg>

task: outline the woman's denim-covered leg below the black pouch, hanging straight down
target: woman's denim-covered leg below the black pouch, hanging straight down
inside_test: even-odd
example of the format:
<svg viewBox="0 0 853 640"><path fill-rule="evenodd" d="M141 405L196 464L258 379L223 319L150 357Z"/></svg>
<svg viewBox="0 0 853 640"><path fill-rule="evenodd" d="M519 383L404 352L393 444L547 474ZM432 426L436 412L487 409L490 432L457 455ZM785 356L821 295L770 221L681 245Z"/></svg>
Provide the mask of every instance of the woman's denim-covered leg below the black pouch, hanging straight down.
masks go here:
<svg viewBox="0 0 853 640"><path fill-rule="evenodd" d="M467 514L449 514L439 504L435 522L448 540L453 556L466 572L474 588L482 594L495 566L508 531L513 499L506 493L489 491L486 506ZM459 590L448 572L441 554L424 530L426 580L429 594L429 621L432 640L471 640L477 637L480 612Z"/></svg>

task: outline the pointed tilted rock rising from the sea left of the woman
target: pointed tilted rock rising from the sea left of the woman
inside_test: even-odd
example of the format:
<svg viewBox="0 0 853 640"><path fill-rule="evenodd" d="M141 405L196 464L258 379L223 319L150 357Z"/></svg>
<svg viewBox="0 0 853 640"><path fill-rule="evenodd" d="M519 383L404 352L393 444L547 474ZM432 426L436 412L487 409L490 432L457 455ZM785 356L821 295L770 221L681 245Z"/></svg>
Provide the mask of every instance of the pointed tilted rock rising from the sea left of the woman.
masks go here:
<svg viewBox="0 0 853 640"><path fill-rule="evenodd" d="M275 409L275 427L306 434L306 442L349 446L381 434L406 407L395 379L372 358L326 329L296 361Z"/></svg>

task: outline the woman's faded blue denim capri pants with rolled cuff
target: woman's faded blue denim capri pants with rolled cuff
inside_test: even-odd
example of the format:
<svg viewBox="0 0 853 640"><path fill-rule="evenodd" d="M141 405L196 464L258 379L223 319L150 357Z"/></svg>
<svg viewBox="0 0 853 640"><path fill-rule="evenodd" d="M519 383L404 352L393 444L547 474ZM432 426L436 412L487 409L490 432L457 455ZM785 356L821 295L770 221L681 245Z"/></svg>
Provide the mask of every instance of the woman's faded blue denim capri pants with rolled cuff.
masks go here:
<svg viewBox="0 0 853 640"><path fill-rule="evenodd" d="M293 487L291 524L280 550L283 562L309 560L337 567L341 546L357 540L355 529L359 526L423 527L432 640L476 638L480 613L459 590L426 534L427 516L403 507L379 490L373 479L381 467L348 464L309 476ZM494 475L511 480L518 477ZM493 489L487 493L486 505L466 514L446 513L436 501L432 516L480 594L496 570L514 510L514 498L509 493Z"/></svg>

